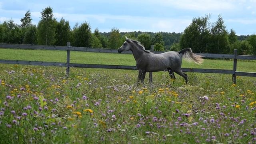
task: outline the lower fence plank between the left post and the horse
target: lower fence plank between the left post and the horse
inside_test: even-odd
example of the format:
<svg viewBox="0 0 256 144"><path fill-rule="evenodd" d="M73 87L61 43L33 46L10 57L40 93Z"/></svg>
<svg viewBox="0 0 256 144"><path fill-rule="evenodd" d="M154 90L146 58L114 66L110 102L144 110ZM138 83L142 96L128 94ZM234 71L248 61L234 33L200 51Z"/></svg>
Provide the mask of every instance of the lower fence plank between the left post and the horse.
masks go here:
<svg viewBox="0 0 256 144"><path fill-rule="evenodd" d="M74 68L106 68L106 69L137 70L136 66L105 65L105 64L74 64L74 63L70 63L69 66L74 67Z"/></svg>

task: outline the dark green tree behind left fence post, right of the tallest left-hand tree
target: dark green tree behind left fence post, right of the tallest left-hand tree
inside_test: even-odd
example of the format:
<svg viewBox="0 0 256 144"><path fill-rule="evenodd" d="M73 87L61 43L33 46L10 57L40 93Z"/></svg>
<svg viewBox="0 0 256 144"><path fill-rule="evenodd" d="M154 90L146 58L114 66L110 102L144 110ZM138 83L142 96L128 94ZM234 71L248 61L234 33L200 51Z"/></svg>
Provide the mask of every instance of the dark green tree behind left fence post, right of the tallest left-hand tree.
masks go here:
<svg viewBox="0 0 256 144"><path fill-rule="evenodd" d="M65 21L63 18L60 22L57 22L55 29L55 45L66 46L67 42L70 42L70 26L69 22Z"/></svg>

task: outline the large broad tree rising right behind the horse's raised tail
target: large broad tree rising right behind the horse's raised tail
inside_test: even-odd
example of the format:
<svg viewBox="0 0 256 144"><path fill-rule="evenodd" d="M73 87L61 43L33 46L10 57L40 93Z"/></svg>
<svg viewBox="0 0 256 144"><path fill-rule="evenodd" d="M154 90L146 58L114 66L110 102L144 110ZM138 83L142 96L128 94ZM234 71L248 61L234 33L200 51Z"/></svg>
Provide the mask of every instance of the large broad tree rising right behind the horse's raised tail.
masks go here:
<svg viewBox="0 0 256 144"><path fill-rule="evenodd" d="M180 48L192 48L193 52L207 52L210 41L210 15L193 18L180 38Z"/></svg>

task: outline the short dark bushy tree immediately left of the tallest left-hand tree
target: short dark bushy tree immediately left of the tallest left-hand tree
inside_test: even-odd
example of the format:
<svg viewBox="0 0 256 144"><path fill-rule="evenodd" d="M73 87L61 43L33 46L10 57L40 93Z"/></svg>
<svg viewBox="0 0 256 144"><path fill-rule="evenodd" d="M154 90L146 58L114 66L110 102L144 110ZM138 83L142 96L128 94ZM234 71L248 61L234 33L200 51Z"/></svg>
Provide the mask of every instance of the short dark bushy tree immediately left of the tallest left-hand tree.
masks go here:
<svg viewBox="0 0 256 144"><path fill-rule="evenodd" d="M30 25L26 28L23 44L37 44L36 26Z"/></svg>

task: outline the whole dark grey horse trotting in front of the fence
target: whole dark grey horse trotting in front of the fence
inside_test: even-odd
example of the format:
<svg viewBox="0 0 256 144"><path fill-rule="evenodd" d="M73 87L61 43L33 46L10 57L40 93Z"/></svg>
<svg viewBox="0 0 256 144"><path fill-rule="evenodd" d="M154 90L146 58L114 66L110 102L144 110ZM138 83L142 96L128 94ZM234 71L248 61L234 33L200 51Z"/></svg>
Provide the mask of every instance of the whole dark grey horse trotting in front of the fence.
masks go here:
<svg viewBox="0 0 256 144"><path fill-rule="evenodd" d="M194 61L196 64L202 64L201 56L192 53L191 48L184 48L179 52L164 52L162 54L154 54L145 50L144 46L136 40L131 40L126 37L126 41L118 48L118 52L131 50L136 60L136 67L139 71L138 81L144 82L146 72L158 72L168 70L171 78L175 78L173 72L176 72L186 80L188 84L188 75L182 72L182 58L189 61Z"/></svg>

